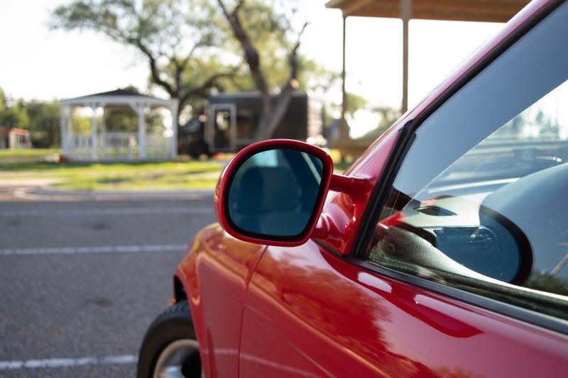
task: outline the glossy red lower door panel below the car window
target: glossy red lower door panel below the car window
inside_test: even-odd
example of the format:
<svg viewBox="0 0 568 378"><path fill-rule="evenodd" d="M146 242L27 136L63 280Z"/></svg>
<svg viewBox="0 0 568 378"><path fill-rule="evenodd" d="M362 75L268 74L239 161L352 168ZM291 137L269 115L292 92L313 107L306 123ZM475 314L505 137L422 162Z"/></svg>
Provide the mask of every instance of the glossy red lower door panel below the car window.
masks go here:
<svg viewBox="0 0 568 378"><path fill-rule="evenodd" d="M346 262L270 247L245 298L241 377L559 377L567 338ZM308 363L309 362L309 363ZM264 365L263 365L264 364ZM246 373L246 374L245 374Z"/></svg>

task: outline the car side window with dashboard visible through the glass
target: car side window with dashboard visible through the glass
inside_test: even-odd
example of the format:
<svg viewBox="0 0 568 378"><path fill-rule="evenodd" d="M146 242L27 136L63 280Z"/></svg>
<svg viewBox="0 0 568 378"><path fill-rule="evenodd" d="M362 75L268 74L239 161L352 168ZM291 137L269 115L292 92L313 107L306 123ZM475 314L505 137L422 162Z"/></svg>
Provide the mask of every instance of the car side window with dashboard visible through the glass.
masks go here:
<svg viewBox="0 0 568 378"><path fill-rule="evenodd" d="M568 317L568 6L427 118L368 260Z"/></svg>

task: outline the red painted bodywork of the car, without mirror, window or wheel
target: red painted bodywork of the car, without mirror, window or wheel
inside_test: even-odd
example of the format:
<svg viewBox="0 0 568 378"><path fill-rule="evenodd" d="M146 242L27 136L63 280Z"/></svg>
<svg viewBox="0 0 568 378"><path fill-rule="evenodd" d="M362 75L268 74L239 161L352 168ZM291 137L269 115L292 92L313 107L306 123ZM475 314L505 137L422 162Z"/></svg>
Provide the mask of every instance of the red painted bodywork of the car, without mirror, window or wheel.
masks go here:
<svg viewBox="0 0 568 378"><path fill-rule="evenodd" d="M432 113L550 6L534 1L523 9L332 179L305 243L249 243L220 224L196 235L175 271L173 302L190 304L205 376L567 376L562 331L508 316L506 305L494 311L381 274L353 256L370 199L400 153L403 127Z"/></svg>

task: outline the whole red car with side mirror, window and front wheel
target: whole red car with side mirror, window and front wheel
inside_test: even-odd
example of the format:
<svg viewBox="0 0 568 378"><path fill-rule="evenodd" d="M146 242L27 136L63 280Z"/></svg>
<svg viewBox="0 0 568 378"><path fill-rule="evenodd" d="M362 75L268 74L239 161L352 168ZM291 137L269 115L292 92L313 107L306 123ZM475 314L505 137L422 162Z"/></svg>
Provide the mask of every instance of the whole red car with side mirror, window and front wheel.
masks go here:
<svg viewBox="0 0 568 378"><path fill-rule="evenodd" d="M567 20L532 2L344 174L239 152L138 377L567 377Z"/></svg>

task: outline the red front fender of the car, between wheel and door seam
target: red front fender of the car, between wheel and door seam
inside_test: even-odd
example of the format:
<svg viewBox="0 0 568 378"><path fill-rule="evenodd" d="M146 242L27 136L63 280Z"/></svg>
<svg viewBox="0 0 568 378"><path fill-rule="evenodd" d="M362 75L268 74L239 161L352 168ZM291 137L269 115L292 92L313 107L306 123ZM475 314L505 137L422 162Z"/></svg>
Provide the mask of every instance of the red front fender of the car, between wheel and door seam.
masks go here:
<svg viewBox="0 0 568 378"><path fill-rule="evenodd" d="M188 294L207 377L238 375L244 294L265 248L211 225L197 234L176 270Z"/></svg>

